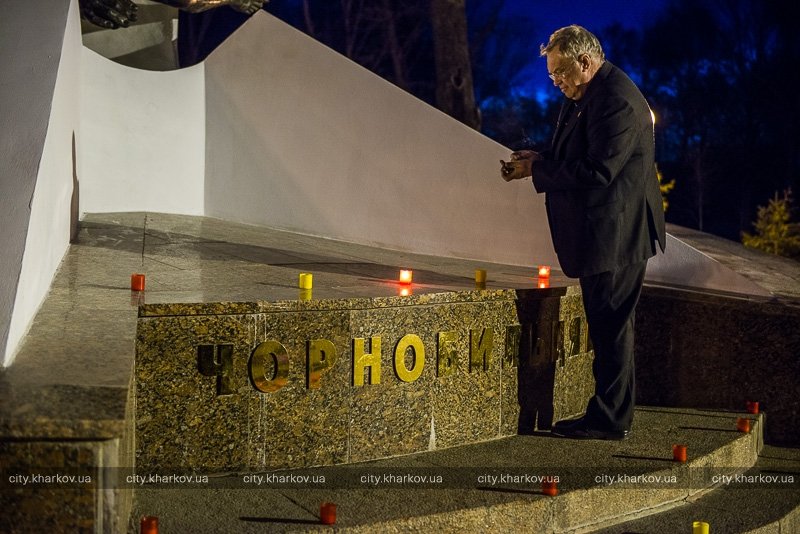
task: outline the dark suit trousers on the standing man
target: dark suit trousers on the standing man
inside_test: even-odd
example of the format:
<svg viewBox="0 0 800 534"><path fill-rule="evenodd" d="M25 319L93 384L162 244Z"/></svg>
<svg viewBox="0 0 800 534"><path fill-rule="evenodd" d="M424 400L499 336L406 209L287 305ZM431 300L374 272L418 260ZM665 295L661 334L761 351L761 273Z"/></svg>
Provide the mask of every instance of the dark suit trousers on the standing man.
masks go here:
<svg viewBox="0 0 800 534"><path fill-rule="evenodd" d="M586 418L593 428L628 430L636 405L634 321L647 260L580 279L594 347L595 393Z"/></svg>

